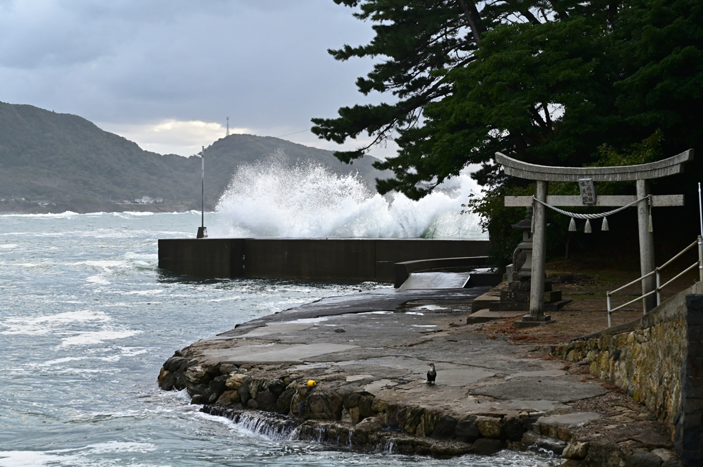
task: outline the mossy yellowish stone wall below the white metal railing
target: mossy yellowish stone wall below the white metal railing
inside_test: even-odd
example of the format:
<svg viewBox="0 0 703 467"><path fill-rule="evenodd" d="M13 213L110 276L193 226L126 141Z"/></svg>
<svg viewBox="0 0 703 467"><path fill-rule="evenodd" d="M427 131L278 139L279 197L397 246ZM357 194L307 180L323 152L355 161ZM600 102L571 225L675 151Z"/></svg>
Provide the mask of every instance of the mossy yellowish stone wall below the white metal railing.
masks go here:
<svg viewBox="0 0 703 467"><path fill-rule="evenodd" d="M698 282L640 320L553 350L591 362L591 374L645 404L669 428L684 466L703 465L702 292Z"/></svg>

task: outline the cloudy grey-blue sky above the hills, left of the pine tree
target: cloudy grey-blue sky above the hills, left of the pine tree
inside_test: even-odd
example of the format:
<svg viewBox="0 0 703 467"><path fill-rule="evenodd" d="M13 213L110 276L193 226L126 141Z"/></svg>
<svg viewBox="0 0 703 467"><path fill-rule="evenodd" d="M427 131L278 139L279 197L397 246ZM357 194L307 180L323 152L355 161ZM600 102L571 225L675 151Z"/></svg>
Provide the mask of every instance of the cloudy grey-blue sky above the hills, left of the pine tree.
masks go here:
<svg viewBox="0 0 703 467"><path fill-rule="evenodd" d="M392 102L356 91L370 60L327 53L372 37L332 0L0 0L0 101L190 155L224 136L226 117L233 133L280 136L342 105Z"/></svg>

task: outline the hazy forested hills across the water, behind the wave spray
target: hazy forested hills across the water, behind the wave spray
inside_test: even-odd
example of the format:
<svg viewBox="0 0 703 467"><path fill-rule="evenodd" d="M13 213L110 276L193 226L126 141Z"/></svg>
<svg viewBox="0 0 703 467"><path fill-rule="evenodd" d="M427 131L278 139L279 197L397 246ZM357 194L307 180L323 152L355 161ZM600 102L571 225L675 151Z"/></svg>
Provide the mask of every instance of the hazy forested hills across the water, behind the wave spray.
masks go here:
<svg viewBox="0 0 703 467"><path fill-rule="evenodd" d="M209 209L240 164L271 154L288 164L314 159L337 173L359 171L370 186L382 176L370 160L348 166L331 151L270 137L231 135L206 146L205 154ZM200 157L148 152L77 115L0 103L0 212L123 211L134 205L116 202L145 195L164 200L150 209L199 208Z"/></svg>

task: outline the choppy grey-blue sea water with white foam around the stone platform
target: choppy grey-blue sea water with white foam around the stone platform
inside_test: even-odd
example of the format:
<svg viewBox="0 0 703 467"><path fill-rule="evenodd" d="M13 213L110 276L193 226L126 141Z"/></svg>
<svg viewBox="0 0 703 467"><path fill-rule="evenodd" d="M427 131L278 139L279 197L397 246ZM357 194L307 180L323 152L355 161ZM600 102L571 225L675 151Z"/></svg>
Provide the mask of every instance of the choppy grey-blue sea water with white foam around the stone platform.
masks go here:
<svg viewBox="0 0 703 467"><path fill-rule="evenodd" d="M323 296L389 287L159 270L157 239L193 237L199 221L0 216L0 466L558 465L529 453L439 461L271 439L160 390L162 363L200 338Z"/></svg>

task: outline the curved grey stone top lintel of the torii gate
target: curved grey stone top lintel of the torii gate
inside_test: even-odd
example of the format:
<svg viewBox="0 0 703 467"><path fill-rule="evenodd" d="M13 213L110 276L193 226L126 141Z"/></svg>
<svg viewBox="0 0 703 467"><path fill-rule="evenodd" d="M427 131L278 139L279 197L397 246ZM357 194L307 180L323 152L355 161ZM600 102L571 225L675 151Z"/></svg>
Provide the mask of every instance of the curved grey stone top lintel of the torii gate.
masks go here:
<svg viewBox="0 0 703 467"><path fill-rule="evenodd" d="M591 178L594 182L647 180L681 173L683 164L692 159L693 150L690 149L668 159L636 166L554 167L528 164L496 152L496 162L503 166L505 175L549 182L577 182L581 178Z"/></svg>

